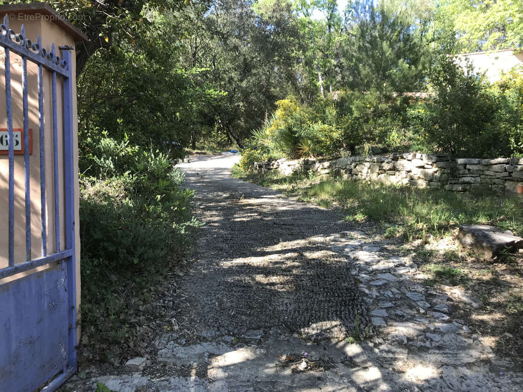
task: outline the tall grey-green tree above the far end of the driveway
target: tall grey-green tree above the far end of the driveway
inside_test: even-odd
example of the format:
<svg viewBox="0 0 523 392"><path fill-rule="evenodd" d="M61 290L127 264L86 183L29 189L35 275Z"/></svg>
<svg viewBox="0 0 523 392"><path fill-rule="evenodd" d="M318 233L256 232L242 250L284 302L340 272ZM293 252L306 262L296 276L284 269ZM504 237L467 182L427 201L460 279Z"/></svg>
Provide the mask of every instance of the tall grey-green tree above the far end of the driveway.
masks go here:
<svg viewBox="0 0 523 392"><path fill-rule="evenodd" d="M242 146L294 82L300 42L293 9L286 0L220 0L189 8L188 23L199 28L181 39L183 63L200 68L200 82L224 93L202 114Z"/></svg>

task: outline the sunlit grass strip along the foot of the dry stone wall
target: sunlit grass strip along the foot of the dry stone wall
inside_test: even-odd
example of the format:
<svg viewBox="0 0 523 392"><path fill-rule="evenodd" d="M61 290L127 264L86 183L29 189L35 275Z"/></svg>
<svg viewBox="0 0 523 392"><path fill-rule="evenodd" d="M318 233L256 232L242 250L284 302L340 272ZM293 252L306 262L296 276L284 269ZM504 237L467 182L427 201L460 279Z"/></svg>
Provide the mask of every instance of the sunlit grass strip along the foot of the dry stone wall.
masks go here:
<svg viewBox="0 0 523 392"><path fill-rule="evenodd" d="M517 195L490 191L466 193L410 186L390 186L341 179L319 180L298 173L289 177L271 170L267 174L245 174L238 167L235 177L269 186L301 200L322 206L339 205L347 220L378 221L392 227L389 236L405 240L441 237L461 224L490 224L523 234L523 203Z"/></svg>

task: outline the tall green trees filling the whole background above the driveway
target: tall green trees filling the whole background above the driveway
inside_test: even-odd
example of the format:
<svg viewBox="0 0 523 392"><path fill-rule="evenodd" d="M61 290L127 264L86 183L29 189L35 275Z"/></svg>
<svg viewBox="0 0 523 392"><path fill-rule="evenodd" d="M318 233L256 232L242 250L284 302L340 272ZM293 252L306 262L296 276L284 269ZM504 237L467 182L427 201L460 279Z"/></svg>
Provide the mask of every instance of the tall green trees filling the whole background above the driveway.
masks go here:
<svg viewBox="0 0 523 392"><path fill-rule="evenodd" d="M82 148L105 131L161 151L174 142L175 156L202 139L241 147L286 97L336 98L348 148L390 145L407 126L403 93L430 87L438 55L521 45L522 4L354 0L340 13L336 0L52 1L90 38L77 48Z"/></svg>

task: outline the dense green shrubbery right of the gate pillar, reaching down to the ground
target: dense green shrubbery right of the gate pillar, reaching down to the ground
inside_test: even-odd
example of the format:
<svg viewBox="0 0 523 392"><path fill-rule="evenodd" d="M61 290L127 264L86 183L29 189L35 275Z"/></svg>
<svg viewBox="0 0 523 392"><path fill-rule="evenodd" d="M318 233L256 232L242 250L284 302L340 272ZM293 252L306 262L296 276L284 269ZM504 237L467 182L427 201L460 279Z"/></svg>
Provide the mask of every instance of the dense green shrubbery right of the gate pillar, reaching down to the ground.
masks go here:
<svg viewBox="0 0 523 392"><path fill-rule="evenodd" d="M162 153L107 137L88 145L91 153L80 161L82 322L120 342L128 335L121 287L139 293L183 257L197 225L192 191L180 188L183 175Z"/></svg>

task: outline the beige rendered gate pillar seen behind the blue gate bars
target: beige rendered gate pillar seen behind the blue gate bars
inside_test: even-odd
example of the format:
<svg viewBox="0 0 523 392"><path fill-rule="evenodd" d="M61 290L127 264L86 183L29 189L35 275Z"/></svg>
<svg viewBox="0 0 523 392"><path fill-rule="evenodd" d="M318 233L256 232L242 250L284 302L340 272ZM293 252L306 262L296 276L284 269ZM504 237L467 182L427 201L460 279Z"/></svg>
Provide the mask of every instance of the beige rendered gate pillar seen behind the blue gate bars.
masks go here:
<svg viewBox="0 0 523 392"><path fill-rule="evenodd" d="M43 6L43 4L42 4ZM16 7L16 6L13 6ZM49 12L49 7L40 10L40 15ZM3 11L3 13L2 13ZM62 57L58 47L69 45L74 47L75 41L83 40L82 33L75 33L74 28L64 29L63 20L57 24L52 18L30 17L22 15L35 15L35 10L15 10L15 17L9 21L9 27L19 33L21 25L26 28L26 38L37 42L40 34L42 47L51 50L51 44L56 47L56 54ZM4 10L0 10L3 20ZM22 16L22 17L19 17ZM31 20L32 19L32 20ZM72 26L71 26L72 27ZM0 128L7 128L6 102L5 102L5 52L0 49ZM22 86L21 86L21 57L15 53L10 54L11 78L12 78L12 100L13 100L13 128L23 128L22 116ZM28 74L28 112L29 128L32 129L32 155L30 163L30 192L31 192L31 258L41 256L41 210L40 210L40 140L39 140L39 110L38 110L38 84L36 64L27 62ZM72 78L73 78L73 126L74 126L74 175L75 182L75 226L76 226L76 287L77 304L80 303L80 243L78 224L78 149L77 149L77 110L76 110L76 77L75 77L75 53L72 53ZM54 236L54 174L53 174L53 132L52 132L52 87L51 73L43 70L43 92L44 92L44 135L45 135L45 161L46 161L46 210L47 210L47 254L51 255L57 250L64 249L64 182L63 182L63 98L62 78L57 75L57 108L58 108L58 140L59 140L59 196L60 196L60 249L55 249ZM0 268L8 265L8 157L0 155ZM15 155L15 263L25 261L25 186L24 186L24 156ZM27 275L39 269L27 271L15 276L0 280L0 284L13 280L22 275Z"/></svg>

